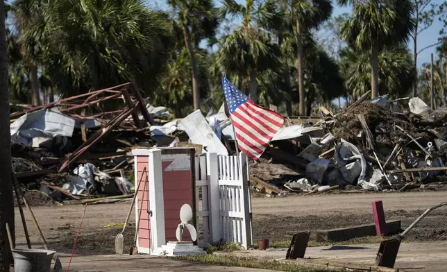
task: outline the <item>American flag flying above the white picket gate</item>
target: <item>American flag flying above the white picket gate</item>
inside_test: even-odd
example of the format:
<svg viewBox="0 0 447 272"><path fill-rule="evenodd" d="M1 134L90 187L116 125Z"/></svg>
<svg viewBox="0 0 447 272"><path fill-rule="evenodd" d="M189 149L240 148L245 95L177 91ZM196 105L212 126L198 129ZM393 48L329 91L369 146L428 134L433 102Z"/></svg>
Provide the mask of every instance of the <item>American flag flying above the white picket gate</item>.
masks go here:
<svg viewBox="0 0 447 272"><path fill-rule="evenodd" d="M284 124L284 118L276 112L255 105L225 76L222 77L222 85L239 149L253 160L258 160Z"/></svg>

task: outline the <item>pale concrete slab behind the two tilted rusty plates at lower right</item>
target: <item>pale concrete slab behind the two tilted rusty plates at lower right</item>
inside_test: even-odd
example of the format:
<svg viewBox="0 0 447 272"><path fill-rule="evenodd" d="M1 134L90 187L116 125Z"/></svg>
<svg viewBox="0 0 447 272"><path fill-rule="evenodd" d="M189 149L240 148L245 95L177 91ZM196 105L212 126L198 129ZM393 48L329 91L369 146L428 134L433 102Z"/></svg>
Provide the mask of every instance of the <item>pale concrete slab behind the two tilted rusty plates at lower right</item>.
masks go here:
<svg viewBox="0 0 447 272"><path fill-rule="evenodd" d="M380 244L321 246L307 248L305 258L325 262L345 264L373 265ZM234 254L243 257L260 257L263 259L283 260L287 248L267 250L244 250ZM405 271L446 271L445 256L447 241L403 243L397 255L395 268Z"/></svg>

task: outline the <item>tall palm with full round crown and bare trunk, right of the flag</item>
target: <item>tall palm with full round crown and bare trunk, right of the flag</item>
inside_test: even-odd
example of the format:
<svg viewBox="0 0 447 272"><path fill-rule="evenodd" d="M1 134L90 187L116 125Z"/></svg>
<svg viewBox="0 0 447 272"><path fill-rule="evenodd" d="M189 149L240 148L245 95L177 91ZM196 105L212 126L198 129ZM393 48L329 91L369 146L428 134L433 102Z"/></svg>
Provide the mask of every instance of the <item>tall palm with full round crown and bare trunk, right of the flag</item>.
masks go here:
<svg viewBox="0 0 447 272"><path fill-rule="evenodd" d="M371 51L371 96L379 95L380 51L385 46L406 44L414 29L413 12L409 0L338 0L339 4L353 4L353 15L341 25L341 35L351 46Z"/></svg>

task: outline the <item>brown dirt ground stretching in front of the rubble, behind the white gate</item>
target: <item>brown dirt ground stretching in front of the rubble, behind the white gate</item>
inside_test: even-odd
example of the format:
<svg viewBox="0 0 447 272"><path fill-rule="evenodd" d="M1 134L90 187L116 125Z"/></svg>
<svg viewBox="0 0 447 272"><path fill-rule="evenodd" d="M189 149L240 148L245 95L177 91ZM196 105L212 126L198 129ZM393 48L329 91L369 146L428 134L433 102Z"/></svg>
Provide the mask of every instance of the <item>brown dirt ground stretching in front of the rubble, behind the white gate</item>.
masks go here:
<svg viewBox="0 0 447 272"><path fill-rule="evenodd" d="M401 219L406 228L428 207L447 199L447 192L337 194L327 196L289 196L285 198L253 198L254 238L289 240L303 230L325 230L344 226L373 223L371 202L382 200L387 219ZM81 228L81 237L76 245L76 254L111 254L115 252L115 235L124 223L130 203L87 206ZM49 247L61 253L71 252L76 232L83 214L82 205L55 205L33 207ZM19 246L25 245L25 237L19 211L16 207L16 235ZM432 239L444 239L447 212L440 208L421 221L410 232L411 237L426 240L437 224ZM33 244L40 245L33 221L25 210L28 230ZM130 217L135 222L135 216ZM124 233L125 252L133 243L133 226Z"/></svg>

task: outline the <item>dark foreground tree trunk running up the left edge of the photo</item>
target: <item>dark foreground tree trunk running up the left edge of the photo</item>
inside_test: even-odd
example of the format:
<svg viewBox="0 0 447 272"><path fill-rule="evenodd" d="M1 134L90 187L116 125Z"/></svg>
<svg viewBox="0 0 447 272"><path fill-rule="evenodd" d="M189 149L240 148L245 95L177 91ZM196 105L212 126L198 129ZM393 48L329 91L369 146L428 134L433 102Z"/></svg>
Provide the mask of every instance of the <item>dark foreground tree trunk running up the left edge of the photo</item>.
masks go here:
<svg viewBox="0 0 447 272"><path fill-rule="evenodd" d="M5 7L0 1L0 271L9 271L12 255L6 232L8 223L15 241L14 202L11 182L11 136L9 121L8 51L6 49Z"/></svg>

